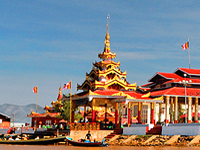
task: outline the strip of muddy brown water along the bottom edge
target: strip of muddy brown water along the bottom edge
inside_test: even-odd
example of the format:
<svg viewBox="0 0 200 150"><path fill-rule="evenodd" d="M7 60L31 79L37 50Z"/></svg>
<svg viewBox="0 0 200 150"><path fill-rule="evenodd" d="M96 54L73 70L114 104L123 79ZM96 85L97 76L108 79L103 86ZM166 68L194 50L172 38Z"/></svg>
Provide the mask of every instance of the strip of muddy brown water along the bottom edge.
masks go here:
<svg viewBox="0 0 200 150"><path fill-rule="evenodd" d="M200 150L200 147L75 147L75 146L40 146L40 145L0 145L0 150Z"/></svg>

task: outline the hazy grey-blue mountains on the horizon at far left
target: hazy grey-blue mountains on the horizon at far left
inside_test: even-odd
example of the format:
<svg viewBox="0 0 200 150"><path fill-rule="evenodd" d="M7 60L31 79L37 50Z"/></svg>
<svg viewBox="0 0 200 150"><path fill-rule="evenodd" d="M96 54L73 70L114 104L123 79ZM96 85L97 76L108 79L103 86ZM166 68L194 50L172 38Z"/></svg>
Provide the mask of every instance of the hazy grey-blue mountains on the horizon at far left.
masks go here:
<svg viewBox="0 0 200 150"><path fill-rule="evenodd" d="M13 104L3 104L0 105L0 113L3 113L11 118L11 123L30 123L31 118L27 117L27 114L30 114L32 111L36 111L36 104L28 104L26 106L19 106ZM44 107L37 105L37 112L44 113Z"/></svg>

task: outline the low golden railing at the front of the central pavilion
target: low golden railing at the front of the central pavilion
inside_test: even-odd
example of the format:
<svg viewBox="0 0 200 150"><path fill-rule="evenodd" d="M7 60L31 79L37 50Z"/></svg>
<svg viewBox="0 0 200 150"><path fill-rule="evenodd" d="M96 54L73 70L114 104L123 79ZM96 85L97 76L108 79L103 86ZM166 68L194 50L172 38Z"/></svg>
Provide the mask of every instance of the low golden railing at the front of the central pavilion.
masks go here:
<svg viewBox="0 0 200 150"><path fill-rule="evenodd" d="M71 123L70 130L100 130L100 123Z"/></svg>

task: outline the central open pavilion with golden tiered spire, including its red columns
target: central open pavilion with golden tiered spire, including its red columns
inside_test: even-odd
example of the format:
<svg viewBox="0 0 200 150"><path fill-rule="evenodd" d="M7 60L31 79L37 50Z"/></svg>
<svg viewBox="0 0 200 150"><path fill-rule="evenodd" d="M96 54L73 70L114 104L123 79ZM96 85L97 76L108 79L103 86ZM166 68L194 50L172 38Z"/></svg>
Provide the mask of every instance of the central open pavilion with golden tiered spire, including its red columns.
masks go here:
<svg viewBox="0 0 200 150"><path fill-rule="evenodd" d="M151 98L150 93L146 92L148 88L140 88L136 83L127 81L127 72L122 72L120 62L113 60L116 53L111 52L108 25L104 50L98 57L101 61L93 63L85 81L77 84L77 90L82 92L71 97L71 130L106 129L108 124L121 128L121 124L130 126L133 122L154 124L154 109L157 103L163 102L163 97ZM62 100L70 101L70 97L63 95ZM77 107L84 108L84 122L88 119L91 125L74 123L74 110ZM148 119L150 114L151 119ZM100 115L101 119L98 117Z"/></svg>

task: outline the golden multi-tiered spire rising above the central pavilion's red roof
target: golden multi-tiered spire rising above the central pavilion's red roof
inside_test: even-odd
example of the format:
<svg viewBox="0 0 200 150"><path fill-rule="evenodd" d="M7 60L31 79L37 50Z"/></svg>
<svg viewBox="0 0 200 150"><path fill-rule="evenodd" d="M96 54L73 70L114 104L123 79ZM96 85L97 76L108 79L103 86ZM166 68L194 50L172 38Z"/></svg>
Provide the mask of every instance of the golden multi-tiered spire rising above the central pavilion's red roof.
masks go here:
<svg viewBox="0 0 200 150"><path fill-rule="evenodd" d="M110 50L109 27L107 24L107 33L105 36L104 51L98 54L101 59L93 63L90 73L86 73L86 80L82 85L77 84L77 90L88 92L89 90L118 90L118 91L136 91L136 83L129 84L126 80L127 72L120 70L120 62L114 62L116 53Z"/></svg>

